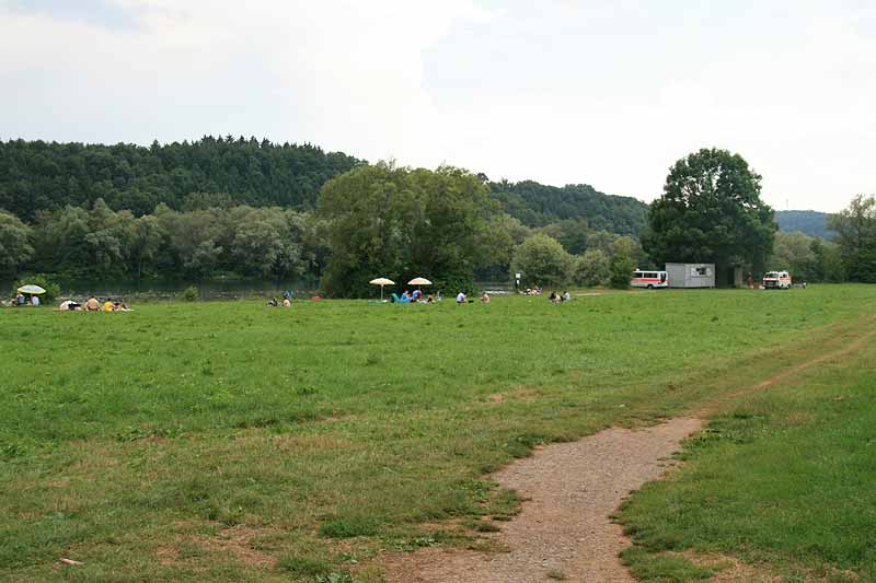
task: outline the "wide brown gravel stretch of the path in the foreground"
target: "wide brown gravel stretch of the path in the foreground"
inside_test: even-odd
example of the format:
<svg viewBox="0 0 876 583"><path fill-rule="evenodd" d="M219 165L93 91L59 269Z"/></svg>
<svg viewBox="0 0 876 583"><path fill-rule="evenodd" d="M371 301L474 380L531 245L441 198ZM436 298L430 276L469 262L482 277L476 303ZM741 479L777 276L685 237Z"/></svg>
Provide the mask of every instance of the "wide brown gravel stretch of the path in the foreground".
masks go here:
<svg viewBox="0 0 876 583"><path fill-rule="evenodd" d="M659 478L680 442L701 427L679 418L644 430L607 429L542 447L494 478L523 497L522 512L493 535L510 552L425 549L384 563L399 582L633 582L618 553L629 543L610 515Z"/></svg>

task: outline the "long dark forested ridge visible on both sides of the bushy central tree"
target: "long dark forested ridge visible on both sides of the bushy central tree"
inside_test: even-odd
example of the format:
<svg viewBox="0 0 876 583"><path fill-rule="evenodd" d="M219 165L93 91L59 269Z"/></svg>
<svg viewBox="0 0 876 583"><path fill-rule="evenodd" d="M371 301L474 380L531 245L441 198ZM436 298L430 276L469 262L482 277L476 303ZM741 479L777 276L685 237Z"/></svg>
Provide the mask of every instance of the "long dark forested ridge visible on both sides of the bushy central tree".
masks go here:
<svg viewBox="0 0 876 583"><path fill-rule="evenodd" d="M174 210L209 207L315 207L325 182L364 163L311 144L255 138L204 137L151 147L44 141L0 141L0 209L25 221L68 205L149 214L163 202ZM647 206L586 184L564 187L532 180L489 183L493 197L532 228L574 221L589 229L638 235Z"/></svg>

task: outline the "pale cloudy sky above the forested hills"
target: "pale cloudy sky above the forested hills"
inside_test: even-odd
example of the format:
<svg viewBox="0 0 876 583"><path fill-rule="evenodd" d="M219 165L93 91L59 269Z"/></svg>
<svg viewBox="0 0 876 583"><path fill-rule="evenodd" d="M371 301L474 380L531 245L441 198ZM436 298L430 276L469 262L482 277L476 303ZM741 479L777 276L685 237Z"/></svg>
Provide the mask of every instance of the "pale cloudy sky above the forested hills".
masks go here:
<svg viewBox="0 0 876 583"><path fill-rule="evenodd" d="M653 200L701 148L776 209L876 193L872 0L0 0L0 139L310 142Z"/></svg>

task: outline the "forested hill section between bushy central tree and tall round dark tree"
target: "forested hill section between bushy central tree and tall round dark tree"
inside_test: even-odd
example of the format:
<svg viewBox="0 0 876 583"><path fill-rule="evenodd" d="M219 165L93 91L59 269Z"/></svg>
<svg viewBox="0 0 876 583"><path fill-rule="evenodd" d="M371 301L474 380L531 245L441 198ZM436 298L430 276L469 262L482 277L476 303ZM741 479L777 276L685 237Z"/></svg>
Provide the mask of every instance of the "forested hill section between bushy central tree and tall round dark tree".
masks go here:
<svg viewBox="0 0 876 583"><path fill-rule="evenodd" d="M591 229L638 235L647 221L648 206L632 197L606 195L587 184L564 187L532 180L489 183L493 197L505 211L528 226L585 219Z"/></svg>

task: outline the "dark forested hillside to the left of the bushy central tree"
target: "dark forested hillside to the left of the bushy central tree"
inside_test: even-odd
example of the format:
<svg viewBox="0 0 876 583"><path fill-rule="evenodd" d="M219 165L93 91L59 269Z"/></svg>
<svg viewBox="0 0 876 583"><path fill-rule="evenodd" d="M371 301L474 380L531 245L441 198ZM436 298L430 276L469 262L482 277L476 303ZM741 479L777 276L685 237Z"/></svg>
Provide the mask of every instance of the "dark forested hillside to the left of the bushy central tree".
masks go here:
<svg viewBox="0 0 876 583"><path fill-rule="evenodd" d="M360 161L311 144L205 137L151 147L0 141L0 209L33 220L41 210L251 205L313 208L322 185Z"/></svg>

